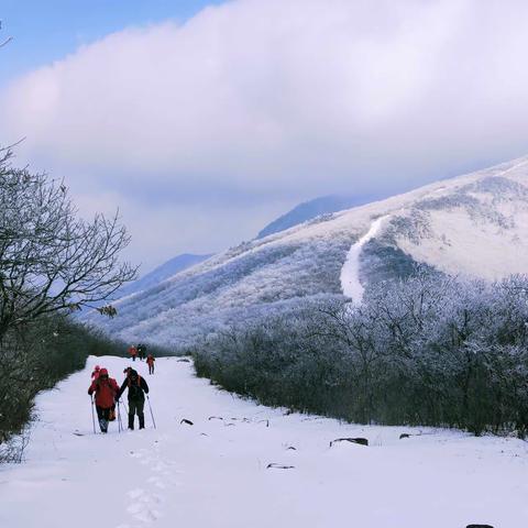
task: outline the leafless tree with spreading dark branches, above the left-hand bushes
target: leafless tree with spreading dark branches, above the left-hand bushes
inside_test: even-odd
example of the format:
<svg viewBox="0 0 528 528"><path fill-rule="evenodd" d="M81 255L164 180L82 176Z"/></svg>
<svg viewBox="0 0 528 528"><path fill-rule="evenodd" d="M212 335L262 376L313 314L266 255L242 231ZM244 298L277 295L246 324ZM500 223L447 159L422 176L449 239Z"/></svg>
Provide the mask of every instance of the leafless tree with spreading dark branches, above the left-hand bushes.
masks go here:
<svg viewBox="0 0 528 528"><path fill-rule="evenodd" d="M78 218L64 183L10 157L0 157L0 340L38 317L97 307L136 274L119 258L130 238L118 213Z"/></svg>

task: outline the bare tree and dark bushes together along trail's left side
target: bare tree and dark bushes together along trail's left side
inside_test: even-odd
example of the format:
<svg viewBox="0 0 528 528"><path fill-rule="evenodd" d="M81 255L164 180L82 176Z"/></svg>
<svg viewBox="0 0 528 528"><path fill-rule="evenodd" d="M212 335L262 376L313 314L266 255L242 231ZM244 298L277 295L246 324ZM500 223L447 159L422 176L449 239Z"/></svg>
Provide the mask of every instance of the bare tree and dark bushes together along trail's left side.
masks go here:
<svg viewBox="0 0 528 528"><path fill-rule="evenodd" d="M108 304L136 270L119 216L80 218L64 182L12 165L0 150L0 451L31 415L35 394L121 343L72 315ZM1 453L0 453L1 458Z"/></svg>

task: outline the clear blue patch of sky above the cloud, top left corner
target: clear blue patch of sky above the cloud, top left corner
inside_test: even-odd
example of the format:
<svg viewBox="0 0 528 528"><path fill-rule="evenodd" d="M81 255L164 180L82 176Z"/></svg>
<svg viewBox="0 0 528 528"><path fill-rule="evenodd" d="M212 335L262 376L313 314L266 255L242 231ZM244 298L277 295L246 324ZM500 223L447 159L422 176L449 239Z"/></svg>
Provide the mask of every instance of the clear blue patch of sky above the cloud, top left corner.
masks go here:
<svg viewBox="0 0 528 528"><path fill-rule="evenodd" d="M221 0L1 0L0 82L63 58L82 44L130 25L185 21Z"/></svg>

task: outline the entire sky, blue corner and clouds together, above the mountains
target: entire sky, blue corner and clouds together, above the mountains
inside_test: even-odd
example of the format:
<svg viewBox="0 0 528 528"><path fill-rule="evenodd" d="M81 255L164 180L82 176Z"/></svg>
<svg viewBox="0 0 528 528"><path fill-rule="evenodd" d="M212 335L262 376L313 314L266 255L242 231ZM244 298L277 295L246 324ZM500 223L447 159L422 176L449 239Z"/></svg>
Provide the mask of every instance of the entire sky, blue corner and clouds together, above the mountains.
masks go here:
<svg viewBox="0 0 528 528"><path fill-rule="evenodd" d="M528 154L524 0L0 0L0 144L142 273ZM0 40L1 42L1 40Z"/></svg>

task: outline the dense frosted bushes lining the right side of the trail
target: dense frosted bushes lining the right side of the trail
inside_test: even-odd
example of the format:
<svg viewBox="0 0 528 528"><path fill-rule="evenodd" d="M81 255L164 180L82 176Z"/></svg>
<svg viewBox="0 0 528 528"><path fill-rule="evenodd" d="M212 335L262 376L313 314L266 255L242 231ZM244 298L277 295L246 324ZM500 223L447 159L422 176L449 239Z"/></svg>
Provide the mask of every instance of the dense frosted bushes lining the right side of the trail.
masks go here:
<svg viewBox="0 0 528 528"><path fill-rule="evenodd" d="M528 278L420 272L195 346L196 371L263 404L382 425L528 432Z"/></svg>

